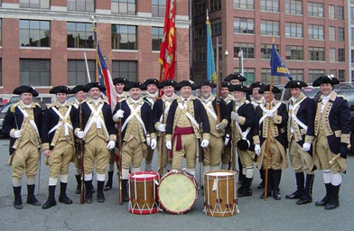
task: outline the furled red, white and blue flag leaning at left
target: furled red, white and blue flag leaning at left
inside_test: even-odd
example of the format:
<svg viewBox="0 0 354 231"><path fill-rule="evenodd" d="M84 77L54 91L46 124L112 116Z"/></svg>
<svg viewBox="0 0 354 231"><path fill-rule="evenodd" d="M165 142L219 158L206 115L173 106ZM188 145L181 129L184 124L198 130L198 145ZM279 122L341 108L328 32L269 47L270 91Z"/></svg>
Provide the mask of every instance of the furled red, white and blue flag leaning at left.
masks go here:
<svg viewBox="0 0 354 231"><path fill-rule="evenodd" d="M96 63L98 69L98 80L102 86L105 86L106 91L103 92L112 110L116 107L116 90L113 84L112 76L107 68L106 61L103 59L102 52L99 48L97 31L94 29L94 36L96 42Z"/></svg>

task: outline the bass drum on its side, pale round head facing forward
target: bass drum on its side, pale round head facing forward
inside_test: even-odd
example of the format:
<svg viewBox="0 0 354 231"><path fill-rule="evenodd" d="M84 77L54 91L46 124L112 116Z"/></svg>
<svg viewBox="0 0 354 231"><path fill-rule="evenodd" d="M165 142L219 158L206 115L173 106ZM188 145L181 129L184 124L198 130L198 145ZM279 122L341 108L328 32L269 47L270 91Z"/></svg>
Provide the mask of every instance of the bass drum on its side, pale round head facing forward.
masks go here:
<svg viewBox="0 0 354 231"><path fill-rule="evenodd" d="M170 171L160 181L157 189L160 207L172 214L188 212L198 197L195 178L187 171Z"/></svg>

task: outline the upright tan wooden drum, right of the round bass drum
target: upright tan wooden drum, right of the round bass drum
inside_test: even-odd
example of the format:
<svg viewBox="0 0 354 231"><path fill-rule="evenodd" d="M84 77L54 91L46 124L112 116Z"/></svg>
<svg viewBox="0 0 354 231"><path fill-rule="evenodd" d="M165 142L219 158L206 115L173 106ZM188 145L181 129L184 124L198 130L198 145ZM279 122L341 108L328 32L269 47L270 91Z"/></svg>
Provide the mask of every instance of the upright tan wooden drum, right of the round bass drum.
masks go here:
<svg viewBox="0 0 354 231"><path fill-rule="evenodd" d="M204 211L211 217L238 214L236 171L219 170L204 173Z"/></svg>

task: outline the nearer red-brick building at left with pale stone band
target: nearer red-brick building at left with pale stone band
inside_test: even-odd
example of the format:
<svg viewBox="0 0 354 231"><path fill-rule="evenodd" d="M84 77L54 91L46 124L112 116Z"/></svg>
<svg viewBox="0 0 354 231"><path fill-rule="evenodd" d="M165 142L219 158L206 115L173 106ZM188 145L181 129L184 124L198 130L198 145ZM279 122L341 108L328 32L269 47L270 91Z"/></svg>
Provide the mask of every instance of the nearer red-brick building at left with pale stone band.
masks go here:
<svg viewBox="0 0 354 231"><path fill-rule="evenodd" d="M0 94L19 85L40 93L53 86L87 83L96 76L92 15L113 78L159 78L162 0L2 0ZM175 79L190 77L188 1L177 1Z"/></svg>

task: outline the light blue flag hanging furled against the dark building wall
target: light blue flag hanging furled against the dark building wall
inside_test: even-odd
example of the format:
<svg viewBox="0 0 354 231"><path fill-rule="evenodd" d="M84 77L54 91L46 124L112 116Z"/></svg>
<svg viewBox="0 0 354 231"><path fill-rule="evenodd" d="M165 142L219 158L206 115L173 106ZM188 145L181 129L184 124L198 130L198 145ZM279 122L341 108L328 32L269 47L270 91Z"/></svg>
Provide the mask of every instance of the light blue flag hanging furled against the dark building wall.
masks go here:
<svg viewBox="0 0 354 231"><path fill-rule="evenodd" d="M215 64L214 64L214 50L212 48L211 41L211 27L209 22L209 15L207 12L207 77L208 80L213 83L217 82L217 73L215 72Z"/></svg>

